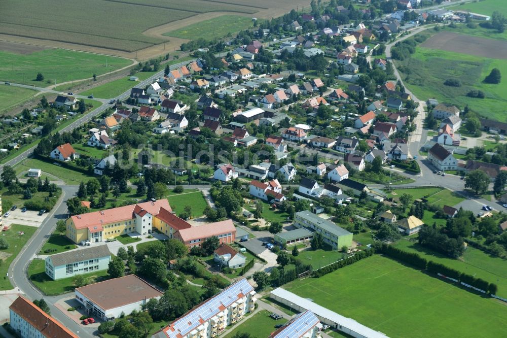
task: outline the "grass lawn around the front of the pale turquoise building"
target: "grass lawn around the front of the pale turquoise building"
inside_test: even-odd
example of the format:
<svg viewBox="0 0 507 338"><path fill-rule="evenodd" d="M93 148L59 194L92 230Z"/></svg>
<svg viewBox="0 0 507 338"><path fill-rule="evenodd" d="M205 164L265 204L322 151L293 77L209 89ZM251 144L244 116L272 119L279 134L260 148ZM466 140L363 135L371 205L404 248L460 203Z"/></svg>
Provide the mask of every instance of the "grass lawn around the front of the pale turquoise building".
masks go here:
<svg viewBox="0 0 507 338"><path fill-rule="evenodd" d="M44 294L57 295L74 291L74 277L63 278L57 281L46 275L45 260L33 259L28 265L28 276L30 281ZM107 269L83 274L87 284L93 284L107 279Z"/></svg>

